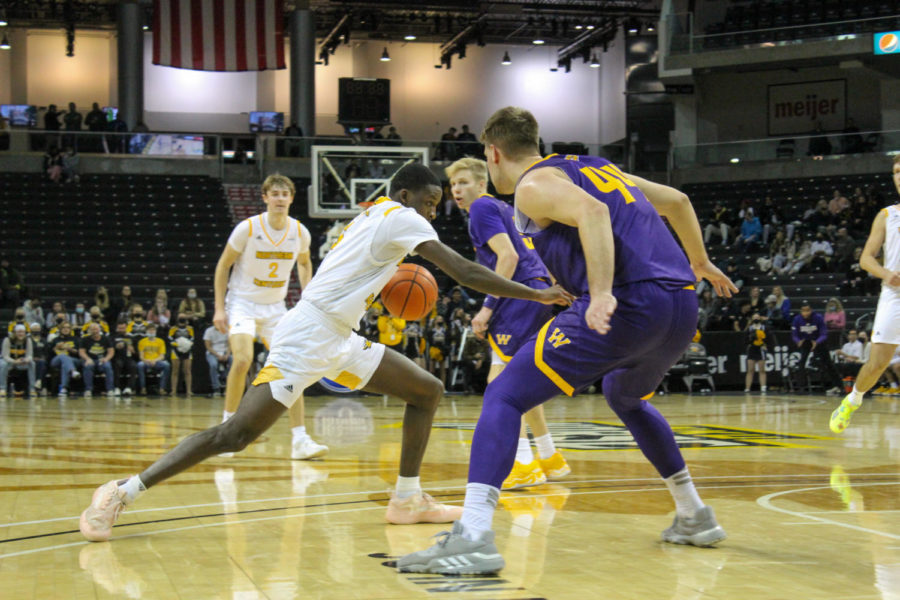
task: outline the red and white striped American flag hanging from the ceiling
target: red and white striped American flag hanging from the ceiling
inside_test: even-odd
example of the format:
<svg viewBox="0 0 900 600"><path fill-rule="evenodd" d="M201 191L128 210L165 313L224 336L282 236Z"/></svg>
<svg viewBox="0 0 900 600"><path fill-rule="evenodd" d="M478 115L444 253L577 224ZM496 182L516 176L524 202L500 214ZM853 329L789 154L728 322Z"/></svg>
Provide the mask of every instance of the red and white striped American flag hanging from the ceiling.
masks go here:
<svg viewBox="0 0 900 600"><path fill-rule="evenodd" d="M282 0L154 0L153 64L198 71L283 69Z"/></svg>

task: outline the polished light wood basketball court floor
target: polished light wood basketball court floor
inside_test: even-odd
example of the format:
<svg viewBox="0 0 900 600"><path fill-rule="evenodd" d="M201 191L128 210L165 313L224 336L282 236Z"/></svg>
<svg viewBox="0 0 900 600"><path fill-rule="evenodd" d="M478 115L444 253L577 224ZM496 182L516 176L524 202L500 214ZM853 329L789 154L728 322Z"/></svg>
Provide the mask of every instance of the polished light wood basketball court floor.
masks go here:
<svg viewBox="0 0 900 600"><path fill-rule="evenodd" d="M601 396L559 398L548 421L573 472L504 493L498 577L397 573L391 559L441 525L384 522L402 407L379 397L307 399L331 447L292 462L287 419L234 458L156 488L111 542L78 533L94 488L141 470L215 424L221 400L56 398L0 405L0 598L900 599L900 399L866 400L842 437L824 396L655 399L728 539L659 541L662 482ZM444 399L422 470L462 501L480 397Z"/></svg>

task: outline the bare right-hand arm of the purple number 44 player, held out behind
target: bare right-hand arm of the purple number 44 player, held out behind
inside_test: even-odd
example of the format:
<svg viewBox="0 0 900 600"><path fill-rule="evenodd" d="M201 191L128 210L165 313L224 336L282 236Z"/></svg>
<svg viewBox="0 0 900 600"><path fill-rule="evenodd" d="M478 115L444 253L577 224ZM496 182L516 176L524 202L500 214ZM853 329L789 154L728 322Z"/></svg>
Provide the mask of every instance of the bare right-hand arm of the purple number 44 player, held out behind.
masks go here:
<svg viewBox="0 0 900 600"><path fill-rule="evenodd" d="M730 298L732 294L737 293L737 286L709 260L706 247L703 245L700 222L687 194L636 175L629 174L628 178L644 193L656 212L669 220L669 224L684 246L684 251L687 252L697 281L701 279L709 281L719 296Z"/></svg>

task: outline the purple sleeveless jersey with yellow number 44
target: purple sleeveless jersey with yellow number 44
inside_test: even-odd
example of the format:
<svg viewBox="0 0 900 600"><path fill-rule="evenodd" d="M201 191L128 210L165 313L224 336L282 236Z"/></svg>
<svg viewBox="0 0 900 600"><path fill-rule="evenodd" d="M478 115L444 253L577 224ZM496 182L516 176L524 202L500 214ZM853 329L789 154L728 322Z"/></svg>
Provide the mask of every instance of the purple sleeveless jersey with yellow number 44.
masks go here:
<svg viewBox="0 0 900 600"><path fill-rule="evenodd" d="M662 217L618 167L596 156L551 154L526 173L547 167L561 170L609 208L616 255L613 288L638 281L654 281L667 289L696 283L687 257ZM518 208L515 220L518 230L531 237L541 260L560 285L576 296L588 296L587 267L578 229L559 222L540 229Z"/></svg>

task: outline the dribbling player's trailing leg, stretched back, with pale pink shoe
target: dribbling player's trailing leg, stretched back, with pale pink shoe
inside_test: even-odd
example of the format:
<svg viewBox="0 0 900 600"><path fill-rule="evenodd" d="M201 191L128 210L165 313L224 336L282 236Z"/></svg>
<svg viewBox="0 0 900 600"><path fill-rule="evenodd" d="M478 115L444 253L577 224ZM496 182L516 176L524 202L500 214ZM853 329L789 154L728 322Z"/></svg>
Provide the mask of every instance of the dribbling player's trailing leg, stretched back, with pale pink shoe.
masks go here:
<svg viewBox="0 0 900 600"><path fill-rule="evenodd" d="M225 423L183 439L140 475L97 488L91 505L81 514L81 533L91 541L109 539L119 513L141 492L210 456L240 452L271 427L286 408L273 398L268 383L252 386L237 413Z"/></svg>

